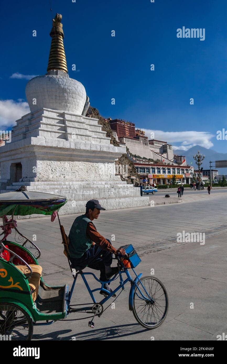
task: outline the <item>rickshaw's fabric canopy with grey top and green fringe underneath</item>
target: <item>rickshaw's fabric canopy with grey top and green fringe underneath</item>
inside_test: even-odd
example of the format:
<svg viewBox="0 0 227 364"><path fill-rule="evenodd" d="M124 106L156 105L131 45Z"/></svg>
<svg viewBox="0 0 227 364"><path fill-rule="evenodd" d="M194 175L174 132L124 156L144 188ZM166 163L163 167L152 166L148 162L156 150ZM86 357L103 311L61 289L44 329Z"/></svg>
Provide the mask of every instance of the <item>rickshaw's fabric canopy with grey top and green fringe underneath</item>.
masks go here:
<svg viewBox="0 0 227 364"><path fill-rule="evenodd" d="M52 215L54 211L59 210L66 202L66 197L43 192L13 191L1 193L0 217L12 214L17 216L32 214Z"/></svg>

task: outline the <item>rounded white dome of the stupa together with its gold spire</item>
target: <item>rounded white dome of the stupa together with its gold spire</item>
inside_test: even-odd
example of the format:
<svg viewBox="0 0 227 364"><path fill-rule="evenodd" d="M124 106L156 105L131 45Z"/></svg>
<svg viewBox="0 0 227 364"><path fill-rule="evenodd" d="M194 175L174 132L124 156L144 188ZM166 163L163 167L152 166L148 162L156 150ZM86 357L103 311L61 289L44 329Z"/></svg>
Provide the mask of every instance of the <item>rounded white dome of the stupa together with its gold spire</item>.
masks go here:
<svg viewBox="0 0 227 364"><path fill-rule="evenodd" d="M86 91L82 83L70 78L67 73L61 19L60 14L56 14L53 19L47 74L34 77L27 83L26 97L31 112L49 108L81 115L86 102Z"/></svg>

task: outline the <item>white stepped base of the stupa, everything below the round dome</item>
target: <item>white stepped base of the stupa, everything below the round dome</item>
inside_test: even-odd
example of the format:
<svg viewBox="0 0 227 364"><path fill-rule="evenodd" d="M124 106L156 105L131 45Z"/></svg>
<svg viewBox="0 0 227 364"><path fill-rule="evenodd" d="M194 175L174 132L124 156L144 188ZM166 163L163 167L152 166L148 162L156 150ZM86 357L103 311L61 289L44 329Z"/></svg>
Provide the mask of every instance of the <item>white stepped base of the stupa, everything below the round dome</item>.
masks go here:
<svg viewBox="0 0 227 364"><path fill-rule="evenodd" d="M12 142L1 147L1 193L27 186L28 191L62 195L60 214L85 212L97 199L107 210L149 205L140 189L116 174L115 161L125 147L110 144L98 119L43 108L17 120ZM15 166L20 165L20 182Z"/></svg>

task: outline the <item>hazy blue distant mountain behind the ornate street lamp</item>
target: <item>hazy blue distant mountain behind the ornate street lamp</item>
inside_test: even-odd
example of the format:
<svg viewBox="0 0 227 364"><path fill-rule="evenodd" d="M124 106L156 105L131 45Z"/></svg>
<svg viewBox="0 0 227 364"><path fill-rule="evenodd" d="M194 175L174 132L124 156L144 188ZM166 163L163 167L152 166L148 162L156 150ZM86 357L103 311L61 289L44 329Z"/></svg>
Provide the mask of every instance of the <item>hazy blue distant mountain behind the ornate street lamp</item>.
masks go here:
<svg viewBox="0 0 227 364"><path fill-rule="evenodd" d="M205 155L205 159L202 164L203 169L210 169L210 161L215 162L227 159L227 153L218 153L215 150L203 148L200 145L191 147L187 151L175 149L173 150L173 153L178 155L185 155L187 164L191 165L192 162L192 166L196 167L193 154L196 154L198 150L200 151L200 153ZM214 166L212 167L212 169L215 169L215 163L212 163L212 166ZM218 174L227 174L227 168L219 168Z"/></svg>

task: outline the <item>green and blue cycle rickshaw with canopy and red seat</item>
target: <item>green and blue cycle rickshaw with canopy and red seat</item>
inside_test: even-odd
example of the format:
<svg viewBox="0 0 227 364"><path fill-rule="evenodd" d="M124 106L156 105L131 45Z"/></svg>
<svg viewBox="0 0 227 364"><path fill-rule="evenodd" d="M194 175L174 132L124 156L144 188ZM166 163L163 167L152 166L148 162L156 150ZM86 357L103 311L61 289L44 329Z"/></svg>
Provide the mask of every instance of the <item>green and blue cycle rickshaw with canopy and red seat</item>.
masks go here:
<svg viewBox="0 0 227 364"><path fill-rule="evenodd" d="M127 282L131 284L129 310L133 312L138 323L147 329L160 326L168 312L167 292L157 278L141 278L142 273L135 272L134 268L141 260L131 244L122 247L127 254L124 257L116 257L118 273L108 281L120 278L120 284L100 302L95 300L93 293L105 291L103 286L107 282L100 281L94 273L83 272L79 267L71 268L68 256L70 242L58 215L58 210L66 202L65 197L39 192L15 191L0 194L0 217L3 218L3 238L0 240L0 335L3 339L7 340L11 335L11 340L31 340L34 325L50 325L57 320L66 319L71 312L91 313L89 326L94 327L94 317L101 316L103 305L118 290L121 293ZM74 278L70 292L67 284L51 286L44 282L42 267L38 263L39 248L17 229L14 217L31 214L51 215L51 221L58 217L64 254ZM15 242L8 240L13 229ZM129 271L135 274L134 279ZM70 304L79 274L90 294L91 304ZM87 275L93 276L101 287L91 290L86 280Z"/></svg>

